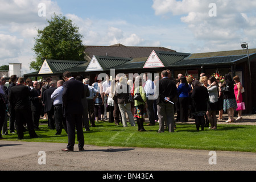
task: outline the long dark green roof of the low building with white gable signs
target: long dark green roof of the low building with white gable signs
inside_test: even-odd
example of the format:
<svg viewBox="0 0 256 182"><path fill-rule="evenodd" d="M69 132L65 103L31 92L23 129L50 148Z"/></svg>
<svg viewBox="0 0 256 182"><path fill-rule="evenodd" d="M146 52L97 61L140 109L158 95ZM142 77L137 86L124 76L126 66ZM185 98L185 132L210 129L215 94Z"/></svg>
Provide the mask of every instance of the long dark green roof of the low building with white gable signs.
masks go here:
<svg viewBox="0 0 256 182"><path fill-rule="evenodd" d="M156 61L160 63L158 68L184 68L184 67L201 67L203 65L232 65L240 64L247 61L246 50L237 51L222 51L222 52L207 52L207 53L181 53L170 51L152 51L158 57ZM256 57L256 49L249 49L250 59ZM143 69L150 68L145 67L148 57L114 57L114 56L94 56L97 61L100 70L109 71L110 69L125 70L125 69ZM94 58L93 58L94 59ZM51 71L54 74L62 74L64 71L70 71L73 73L82 73L89 68L90 62L85 61L67 61L67 60L45 60ZM149 63L150 64L150 63ZM43 67L43 65L42 65ZM155 67L151 67L154 69ZM93 71L93 69L92 69ZM97 71L97 70L95 70ZM91 71L88 71L91 72ZM24 76L35 76L39 72L28 73ZM41 75L51 75L51 73L43 73Z"/></svg>

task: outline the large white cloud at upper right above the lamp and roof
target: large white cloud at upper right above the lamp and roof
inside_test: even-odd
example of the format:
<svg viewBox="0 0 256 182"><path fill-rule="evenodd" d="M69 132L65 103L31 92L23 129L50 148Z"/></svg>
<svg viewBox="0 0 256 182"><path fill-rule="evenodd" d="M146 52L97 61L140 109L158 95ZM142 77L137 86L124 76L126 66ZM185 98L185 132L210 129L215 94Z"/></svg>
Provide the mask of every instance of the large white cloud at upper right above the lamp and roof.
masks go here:
<svg viewBox="0 0 256 182"><path fill-rule="evenodd" d="M210 3L216 4L216 16L209 16L213 10ZM251 48L256 47L255 1L154 0L152 8L156 15L179 15L194 38L204 42L200 49L195 43L190 44L194 47L191 51L240 49L242 40L248 40Z"/></svg>

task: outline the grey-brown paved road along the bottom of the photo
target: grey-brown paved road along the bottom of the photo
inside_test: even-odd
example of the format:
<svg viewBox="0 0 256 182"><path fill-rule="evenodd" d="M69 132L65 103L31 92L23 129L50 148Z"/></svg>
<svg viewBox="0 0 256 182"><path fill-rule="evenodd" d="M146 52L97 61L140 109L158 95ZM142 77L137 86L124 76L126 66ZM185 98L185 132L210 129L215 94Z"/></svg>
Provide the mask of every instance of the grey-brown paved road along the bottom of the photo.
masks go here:
<svg viewBox="0 0 256 182"><path fill-rule="evenodd" d="M255 171L256 155L250 152L165 148L98 147L85 145L79 152L63 152L67 144L0 140L2 171ZM46 154L46 164L43 155Z"/></svg>

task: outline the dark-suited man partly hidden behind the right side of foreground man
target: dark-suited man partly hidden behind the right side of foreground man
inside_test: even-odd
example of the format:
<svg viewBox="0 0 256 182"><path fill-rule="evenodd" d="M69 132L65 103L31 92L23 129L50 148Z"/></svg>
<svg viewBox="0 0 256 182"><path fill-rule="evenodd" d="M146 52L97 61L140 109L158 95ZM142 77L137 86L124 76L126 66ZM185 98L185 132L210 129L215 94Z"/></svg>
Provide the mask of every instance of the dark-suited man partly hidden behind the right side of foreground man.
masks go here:
<svg viewBox="0 0 256 182"><path fill-rule="evenodd" d="M81 81L83 78L79 75L76 77L76 80ZM89 118L88 118L88 102L87 98L90 96L90 91L88 85L84 84L84 98L82 98L82 106L84 106L84 111L82 112L82 123L84 125L85 131L90 131L89 129Z"/></svg>

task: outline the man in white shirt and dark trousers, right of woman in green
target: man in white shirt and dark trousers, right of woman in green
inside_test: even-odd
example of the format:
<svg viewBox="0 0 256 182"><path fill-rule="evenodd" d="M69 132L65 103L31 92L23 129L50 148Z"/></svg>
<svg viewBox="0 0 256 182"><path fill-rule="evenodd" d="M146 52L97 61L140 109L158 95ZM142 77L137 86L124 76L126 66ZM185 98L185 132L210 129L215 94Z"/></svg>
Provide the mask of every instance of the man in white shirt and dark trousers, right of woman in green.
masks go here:
<svg viewBox="0 0 256 182"><path fill-rule="evenodd" d="M150 96L154 95L154 82L147 76L147 73L143 75L144 81L146 84L144 86L144 90L146 92L147 97L147 115L150 123L147 126L155 125L155 113L154 113L154 100L150 98Z"/></svg>

